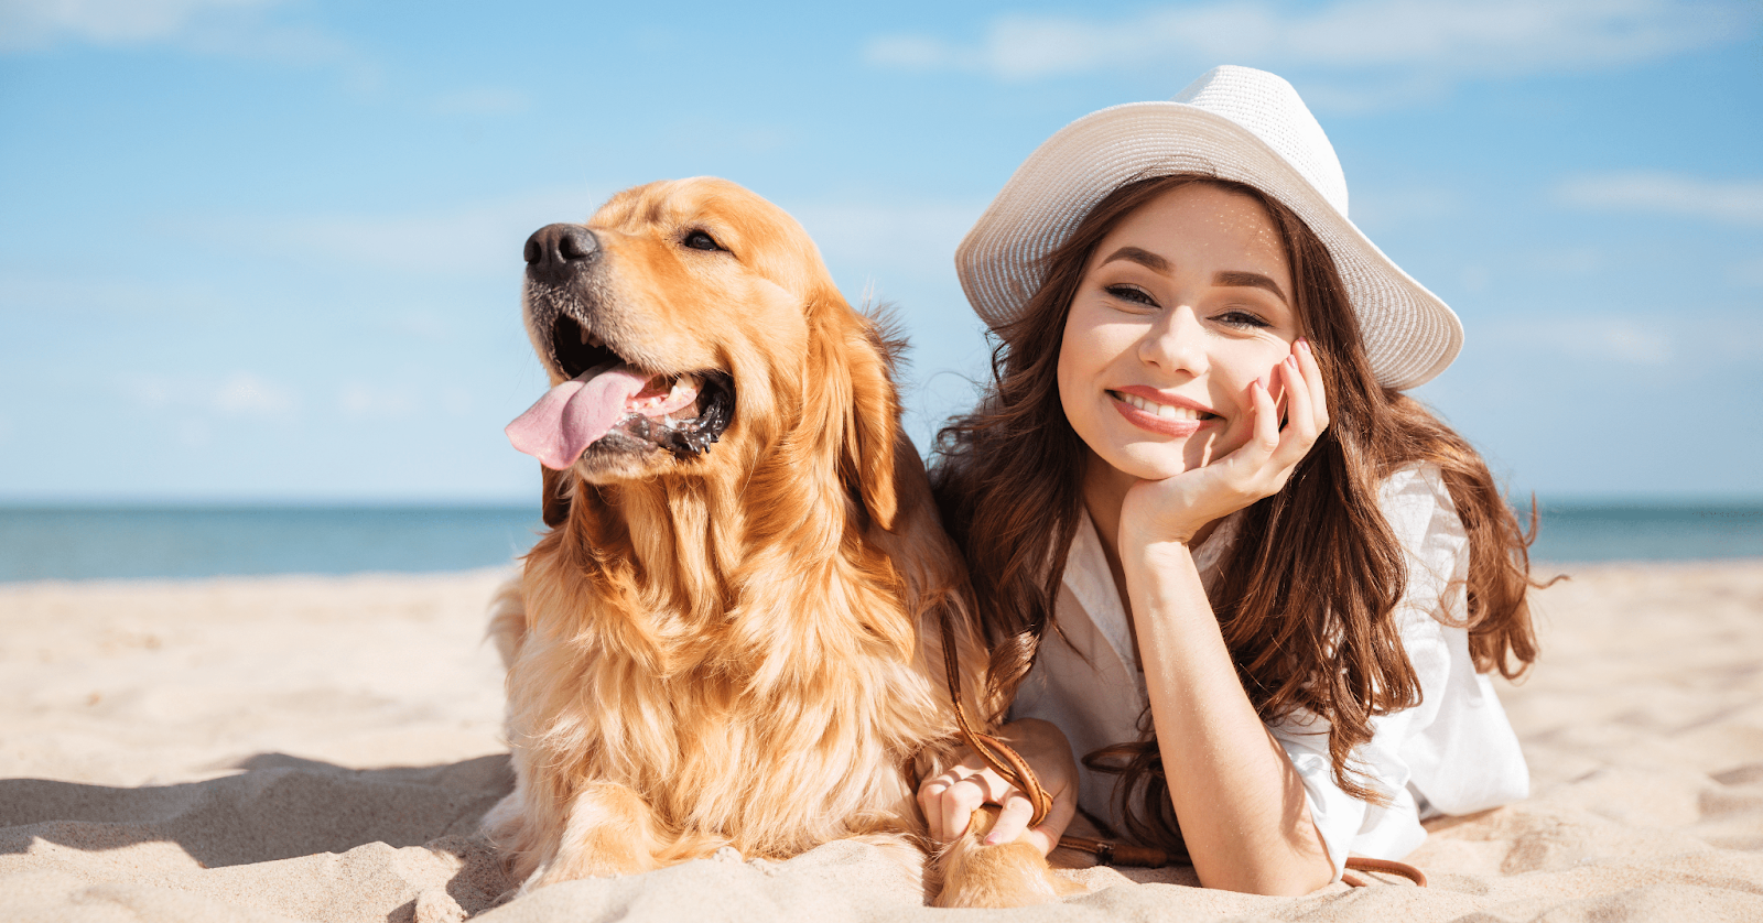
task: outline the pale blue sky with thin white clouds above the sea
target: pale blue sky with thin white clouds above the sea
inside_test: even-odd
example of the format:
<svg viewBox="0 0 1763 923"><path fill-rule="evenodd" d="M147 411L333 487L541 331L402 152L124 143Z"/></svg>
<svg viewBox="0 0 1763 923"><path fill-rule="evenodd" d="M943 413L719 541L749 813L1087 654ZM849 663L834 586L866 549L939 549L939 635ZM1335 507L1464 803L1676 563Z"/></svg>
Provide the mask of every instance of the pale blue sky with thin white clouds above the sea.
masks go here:
<svg viewBox="0 0 1763 923"><path fill-rule="evenodd" d="M1763 497L1752 2L0 0L0 502L529 502L520 245L691 174L899 305L922 446L991 196L1216 63L1298 86L1463 319L1416 395L1513 490Z"/></svg>

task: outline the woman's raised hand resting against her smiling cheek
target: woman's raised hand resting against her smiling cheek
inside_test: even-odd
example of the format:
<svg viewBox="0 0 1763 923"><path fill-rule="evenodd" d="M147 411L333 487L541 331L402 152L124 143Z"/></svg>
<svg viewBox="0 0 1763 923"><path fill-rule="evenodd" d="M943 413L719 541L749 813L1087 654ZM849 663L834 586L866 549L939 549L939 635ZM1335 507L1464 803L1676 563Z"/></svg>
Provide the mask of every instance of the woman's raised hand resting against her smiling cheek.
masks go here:
<svg viewBox="0 0 1763 923"><path fill-rule="evenodd" d="M1269 379L1283 389L1285 426L1269 393ZM1188 543L1209 521L1278 493L1298 462L1328 428L1328 393L1310 343L1298 340L1268 377L1248 386L1253 432L1231 454L1162 481L1139 481L1127 491L1120 543Z"/></svg>

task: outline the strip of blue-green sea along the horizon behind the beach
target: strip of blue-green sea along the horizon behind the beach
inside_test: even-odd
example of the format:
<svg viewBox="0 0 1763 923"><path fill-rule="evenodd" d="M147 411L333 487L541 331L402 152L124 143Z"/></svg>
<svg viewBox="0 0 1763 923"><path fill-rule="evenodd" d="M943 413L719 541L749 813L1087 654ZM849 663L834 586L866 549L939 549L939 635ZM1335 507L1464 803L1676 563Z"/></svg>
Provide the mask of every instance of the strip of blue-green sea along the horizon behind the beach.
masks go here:
<svg viewBox="0 0 1763 923"><path fill-rule="evenodd" d="M0 581L502 567L536 507L0 509ZM1763 558L1763 504L1543 507L1536 560Z"/></svg>

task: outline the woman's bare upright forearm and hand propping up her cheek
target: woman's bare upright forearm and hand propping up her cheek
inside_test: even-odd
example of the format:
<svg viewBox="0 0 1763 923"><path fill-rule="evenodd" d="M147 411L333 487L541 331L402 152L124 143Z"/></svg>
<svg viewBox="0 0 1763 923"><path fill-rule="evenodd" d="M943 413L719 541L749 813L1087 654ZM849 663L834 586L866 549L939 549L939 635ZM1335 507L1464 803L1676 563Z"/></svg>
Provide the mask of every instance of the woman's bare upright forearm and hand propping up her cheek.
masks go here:
<svg viewBox="0 0 1763 923"><path fill-rule="evenodd" d="M1335 865L1298 770L1238 680L1188 551L1206 523L1283 488L1328 426L1308 343L1276 373L1283 428L1268 384L1255 382L1250 440L1202 469L1135 483L1114 534L1169 798L1201 884L1296 895L1333 881Z"/></svg>

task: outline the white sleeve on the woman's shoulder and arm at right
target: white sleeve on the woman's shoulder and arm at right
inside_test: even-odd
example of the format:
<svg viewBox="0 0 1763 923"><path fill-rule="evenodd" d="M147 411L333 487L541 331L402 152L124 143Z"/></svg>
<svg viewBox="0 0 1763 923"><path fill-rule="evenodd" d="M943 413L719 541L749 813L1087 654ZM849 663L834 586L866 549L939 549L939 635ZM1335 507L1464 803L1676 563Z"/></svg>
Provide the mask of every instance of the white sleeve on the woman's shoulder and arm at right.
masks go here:
<svg viewBox="0 0 1763 923"><path fill-rule="evenodd" d="M1384 481L1379 506L1407 551L1407 592L1396 604L1402 643L1421 687L1414 708L1372 719L1354 754L1361 779L1389 796L1370 805L1335 784L1328 722L1301 712L1271 726L1298 768L1310 816L1340 879L1347 856L1400 860L1425 838L1421 817L1470 814L1529 794L1518 736L1469 655L1469 537L1439 469L1414 465Z"/></svg>

